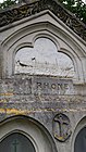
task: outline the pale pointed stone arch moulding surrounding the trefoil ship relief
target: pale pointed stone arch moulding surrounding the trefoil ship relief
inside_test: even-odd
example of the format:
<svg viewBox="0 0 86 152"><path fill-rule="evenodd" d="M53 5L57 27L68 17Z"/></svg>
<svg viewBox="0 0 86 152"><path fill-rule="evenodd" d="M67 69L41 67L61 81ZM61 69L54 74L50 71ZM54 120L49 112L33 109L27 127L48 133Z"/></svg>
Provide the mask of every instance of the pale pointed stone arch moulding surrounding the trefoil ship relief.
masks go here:
<svg viewBox="0 0 86 152"><path fill-rule="evenodd" d="M3 56L3 75L11 76L13 75L13 65L9 61L13 61L13 51L16 50L22 45L28 45L33 47L34 38L39 37L39 35L48 36L48 38L52 39L54 43L58 43L59 51L62 51L61 46L63 49L70 50L70 53L74 55L74 60L76 61L75 69L76 69L76 81L84 80L84 73L83 73L83 61L82 58L85 55L84 49L78 43L76 36L74 38L74 34L67 33L66 27L58 20L50 12L45 12L41 14L42 16L47 16L47 21L36 21L36 18L40 16L36 16L33 23L33 18L29 22L24 23L24 26L21 26L15 33L11 33L9 37L7 37L2 41L2 50L4 50ZM50 20L48 20L48 16ZM53 22L52 22L53 20ZM25 25L26 24L26 25ZM60 27L61 26L61 27ZM9 48L8 48L9 46ZM66 49L67 48L67 49ZM66 51L69 54L69 51ZM10 59L10 60L9 60ZM8 61L8 62L5 62ZM8 64L7 64L8 63ZM77 66L77 67L76 67Z"/></svg>

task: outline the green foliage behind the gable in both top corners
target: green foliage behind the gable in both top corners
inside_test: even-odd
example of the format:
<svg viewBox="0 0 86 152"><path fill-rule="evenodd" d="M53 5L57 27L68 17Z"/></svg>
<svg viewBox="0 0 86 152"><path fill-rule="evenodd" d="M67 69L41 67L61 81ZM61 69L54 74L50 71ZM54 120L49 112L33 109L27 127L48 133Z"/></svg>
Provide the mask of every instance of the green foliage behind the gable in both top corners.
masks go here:
<svg viewBox="0 0 86 152"><path fill-rule="evenodd" d="M86 4L82 0L57 0L60 1L65 9L76 15L82 22L86 24ZM0 3L0 9L8 8L12 4L19 3L20 0L4 0Z"/></svg>

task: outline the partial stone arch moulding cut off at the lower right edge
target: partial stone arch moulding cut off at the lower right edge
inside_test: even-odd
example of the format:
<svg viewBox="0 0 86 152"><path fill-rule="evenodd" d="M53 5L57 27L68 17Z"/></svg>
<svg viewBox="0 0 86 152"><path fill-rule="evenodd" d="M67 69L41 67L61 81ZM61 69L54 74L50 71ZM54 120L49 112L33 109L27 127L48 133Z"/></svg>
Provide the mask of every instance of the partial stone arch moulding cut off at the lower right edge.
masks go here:
<svg viewBox="0 0 86 152"><path fill-rule="evenodd" d="M75 127L75 130L73 132L73 138L72 138L72 152L76 152L74 150L75 148L75 143L76 143L76 140L78 140L78 138L81 137L81 135L84 135L83 134L83 130L84 128L86 128L86 116L84 116L76 125ZM85 132L85 131L84 131ZM77 144L77 143L76 143Z"/></svg>

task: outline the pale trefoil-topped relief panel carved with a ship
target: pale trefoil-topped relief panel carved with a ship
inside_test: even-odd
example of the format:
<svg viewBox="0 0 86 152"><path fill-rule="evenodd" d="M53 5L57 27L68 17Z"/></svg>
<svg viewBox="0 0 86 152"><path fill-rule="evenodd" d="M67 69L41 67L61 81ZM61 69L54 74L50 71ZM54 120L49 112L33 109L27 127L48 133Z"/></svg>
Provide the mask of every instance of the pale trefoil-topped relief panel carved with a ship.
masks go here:
<svg viewBox="0 0 86 152"><path fill-rule="evenodd" d="M34 48L22 48L15 55L15 74L52 75L74 77L72 60L57 50L48 38L39 38Z"/></svg>

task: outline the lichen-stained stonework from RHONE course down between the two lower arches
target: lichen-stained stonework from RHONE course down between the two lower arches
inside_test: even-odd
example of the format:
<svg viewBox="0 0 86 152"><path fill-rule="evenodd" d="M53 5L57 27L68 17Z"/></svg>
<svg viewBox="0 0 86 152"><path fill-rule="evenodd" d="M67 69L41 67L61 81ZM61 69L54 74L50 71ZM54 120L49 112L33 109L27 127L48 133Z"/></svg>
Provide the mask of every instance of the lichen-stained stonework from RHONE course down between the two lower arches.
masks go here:
<svg viewBox="0 0 86 152"><path fill-rule="evenodd" d="M27 75L1 79L0 122L11 116L25 115L40 122L53 136L53 118L59 113L65 114L70 118L72 132L74 132L74 126L78 119L86 113L86 96L77 94L77 87L73 85L72 80ZM65 149L69 152L72 137L73 134L66 141L64 140L66 149L65 147L62 149L63 143L54 139L59 151Z"/></svg>

